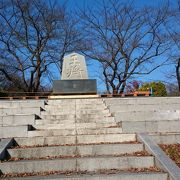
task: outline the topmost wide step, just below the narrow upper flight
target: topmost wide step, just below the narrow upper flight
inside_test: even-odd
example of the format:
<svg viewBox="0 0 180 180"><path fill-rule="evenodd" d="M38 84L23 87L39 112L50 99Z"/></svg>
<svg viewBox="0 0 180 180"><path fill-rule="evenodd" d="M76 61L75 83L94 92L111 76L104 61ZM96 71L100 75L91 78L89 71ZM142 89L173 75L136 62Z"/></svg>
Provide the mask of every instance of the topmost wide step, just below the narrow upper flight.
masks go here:
<svg viewBox="0 0 180 180"><path fill-rule="evenodd" d="M120 143L136 141L135 134L100 134L100 135L77 135L77 136L51 136L15 138L19 146L44 146L66 144L92 144L92 143Z"/></svg>

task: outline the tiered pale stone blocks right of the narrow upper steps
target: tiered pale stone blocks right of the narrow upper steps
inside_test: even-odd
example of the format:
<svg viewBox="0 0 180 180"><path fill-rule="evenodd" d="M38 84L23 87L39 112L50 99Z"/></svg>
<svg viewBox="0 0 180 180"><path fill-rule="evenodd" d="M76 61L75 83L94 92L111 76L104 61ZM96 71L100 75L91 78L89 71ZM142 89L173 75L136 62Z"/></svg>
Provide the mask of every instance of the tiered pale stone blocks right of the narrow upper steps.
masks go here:
<svg viewBox="0 0 180 180"><path fill-rule="evenodd" d="M148 133L157 143L180 143L180 98L107 98L123 133Z"/></svg>

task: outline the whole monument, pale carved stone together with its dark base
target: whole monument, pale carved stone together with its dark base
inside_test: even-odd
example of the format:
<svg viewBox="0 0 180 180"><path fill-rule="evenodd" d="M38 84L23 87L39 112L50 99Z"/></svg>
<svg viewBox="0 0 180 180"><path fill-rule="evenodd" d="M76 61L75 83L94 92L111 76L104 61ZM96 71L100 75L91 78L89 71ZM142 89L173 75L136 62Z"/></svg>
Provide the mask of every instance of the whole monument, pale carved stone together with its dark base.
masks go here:
<svg viewBox="0 0 180 180"><path fill-rule="evenodd" d="M53 82L54 94L96 94L96 80L88 79L85 57L71 53L64 57L61 80Z"/></svg>

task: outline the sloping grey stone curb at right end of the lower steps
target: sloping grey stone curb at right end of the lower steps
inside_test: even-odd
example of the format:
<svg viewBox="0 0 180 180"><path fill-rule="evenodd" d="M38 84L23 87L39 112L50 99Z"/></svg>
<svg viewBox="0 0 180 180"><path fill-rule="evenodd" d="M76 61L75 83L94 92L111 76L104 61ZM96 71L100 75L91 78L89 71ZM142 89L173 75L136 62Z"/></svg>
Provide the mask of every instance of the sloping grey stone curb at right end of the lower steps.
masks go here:
<svg viewBox="0 0 180 180"><path fill-rule="evenodd" d="M137 138L144 143L145 149L155 156L155 165L168 172L170 180L180 180L180 168L176 166L149 135L140 133L137 135Z"/></svg>

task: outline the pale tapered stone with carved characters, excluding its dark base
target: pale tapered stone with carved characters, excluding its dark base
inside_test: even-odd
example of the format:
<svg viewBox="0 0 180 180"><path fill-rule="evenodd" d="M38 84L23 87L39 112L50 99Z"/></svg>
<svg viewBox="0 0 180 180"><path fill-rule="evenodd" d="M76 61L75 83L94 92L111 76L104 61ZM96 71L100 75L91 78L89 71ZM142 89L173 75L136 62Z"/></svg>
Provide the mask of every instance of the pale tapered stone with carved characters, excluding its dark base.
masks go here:
<svg viewBox="0 0 180 180"><path fill-rule="evenodd" d="M61 80L88 79L84 56L72 53L64 57Z"/></svg>

